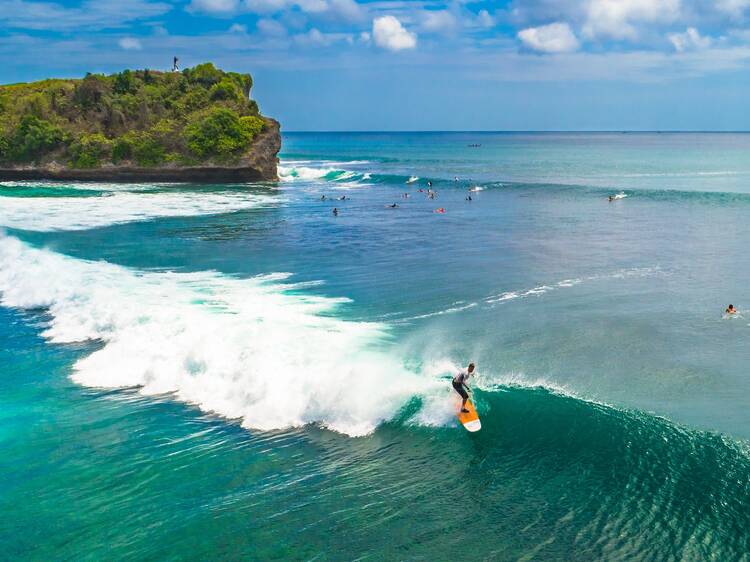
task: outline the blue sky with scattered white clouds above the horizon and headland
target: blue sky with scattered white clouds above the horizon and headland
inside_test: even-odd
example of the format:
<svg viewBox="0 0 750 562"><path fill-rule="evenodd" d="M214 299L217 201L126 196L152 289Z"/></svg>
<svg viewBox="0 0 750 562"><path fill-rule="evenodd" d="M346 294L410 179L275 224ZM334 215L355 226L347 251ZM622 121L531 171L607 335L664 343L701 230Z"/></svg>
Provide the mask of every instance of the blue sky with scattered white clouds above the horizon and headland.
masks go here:
<svg viewBox="0 0 750 562"><path fill-rule="evenodd" d="M0 82L212 61L287 131L750 130L750 0L0 0Z"/></svg>

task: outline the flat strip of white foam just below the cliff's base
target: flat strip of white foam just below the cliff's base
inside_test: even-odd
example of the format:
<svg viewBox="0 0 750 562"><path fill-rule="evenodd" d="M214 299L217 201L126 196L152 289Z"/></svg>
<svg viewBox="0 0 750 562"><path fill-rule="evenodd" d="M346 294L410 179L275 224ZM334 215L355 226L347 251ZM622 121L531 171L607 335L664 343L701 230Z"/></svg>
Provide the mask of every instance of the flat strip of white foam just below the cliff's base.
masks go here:
<svg viewBox="0 0 750 562"><path fill-rule="evenodd" d="M279 202L247 192L112 192L108 197L0 197L0 226L36 231L85 230L113 224L230 213Z"/></svg>

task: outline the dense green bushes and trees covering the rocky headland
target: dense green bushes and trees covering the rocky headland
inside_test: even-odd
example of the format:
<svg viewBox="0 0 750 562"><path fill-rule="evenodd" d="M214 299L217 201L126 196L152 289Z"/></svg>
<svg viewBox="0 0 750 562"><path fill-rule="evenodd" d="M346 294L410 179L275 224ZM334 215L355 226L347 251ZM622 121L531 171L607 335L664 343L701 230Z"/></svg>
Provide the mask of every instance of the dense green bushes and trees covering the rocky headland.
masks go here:
<svg viewBox="0 0 750 562"><path fill-rule="evenodd" d="M266 125L251 87L211 63L0 86L0 167L234 164Z"/></svg>

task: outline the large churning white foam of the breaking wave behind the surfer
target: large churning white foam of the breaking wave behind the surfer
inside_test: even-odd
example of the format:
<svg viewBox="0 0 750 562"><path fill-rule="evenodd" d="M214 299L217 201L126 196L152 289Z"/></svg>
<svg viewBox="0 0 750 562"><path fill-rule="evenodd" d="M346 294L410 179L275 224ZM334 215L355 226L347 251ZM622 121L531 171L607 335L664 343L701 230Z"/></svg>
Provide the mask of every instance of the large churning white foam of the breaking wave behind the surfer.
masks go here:
<svg viewBox="0 0 750 562"><path fill-rule="evenodd" d="M82 385L174 393L248 428L352 436L414 396L446 396L384 351L387 326L334 318L343 299L290 294L286 278L136 271L0 237L0 304L48 308L52 342L103 342L74 366ZM447 419L450 402L436 408Z"/></svg>

